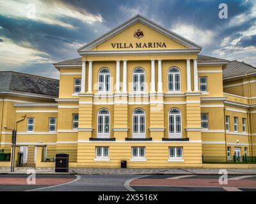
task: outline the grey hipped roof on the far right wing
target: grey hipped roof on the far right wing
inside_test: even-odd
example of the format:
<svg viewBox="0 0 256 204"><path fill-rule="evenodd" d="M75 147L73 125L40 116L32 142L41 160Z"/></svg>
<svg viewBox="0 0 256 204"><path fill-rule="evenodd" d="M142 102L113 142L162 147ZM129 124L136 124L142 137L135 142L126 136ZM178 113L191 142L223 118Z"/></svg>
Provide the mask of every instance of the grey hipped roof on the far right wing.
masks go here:
<svg viewBox="0 0 256 204"><path fill-rule="evenodd" d="M250 64L239 61L230 61L223 69L223 78L236 77L249 73L256 73L256 68Z"/></svg>

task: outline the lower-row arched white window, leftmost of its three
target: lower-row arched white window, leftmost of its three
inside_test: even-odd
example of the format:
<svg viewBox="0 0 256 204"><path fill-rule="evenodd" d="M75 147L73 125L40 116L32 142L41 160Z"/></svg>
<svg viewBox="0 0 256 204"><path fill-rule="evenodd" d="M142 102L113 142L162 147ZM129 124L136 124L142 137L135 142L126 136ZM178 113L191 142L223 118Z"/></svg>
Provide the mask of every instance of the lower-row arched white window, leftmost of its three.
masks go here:
<svg viewBox="0 0 256 204"><path fill-rule="evenodd" d="M98 113L98 137L109 137L110 115L107 109L101 109Z"/></svg>

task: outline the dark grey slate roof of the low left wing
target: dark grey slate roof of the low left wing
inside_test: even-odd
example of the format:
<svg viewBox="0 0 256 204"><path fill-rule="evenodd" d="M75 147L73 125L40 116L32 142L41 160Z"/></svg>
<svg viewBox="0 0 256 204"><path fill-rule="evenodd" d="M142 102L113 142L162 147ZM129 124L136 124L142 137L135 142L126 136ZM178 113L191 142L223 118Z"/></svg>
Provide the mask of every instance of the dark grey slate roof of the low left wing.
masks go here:
<svg viewBox="0 0 256 204"><path fill-rule="evenodd" d="M59 80L15 71L0 71L0 91L18 91L58 97Z"/></svg>

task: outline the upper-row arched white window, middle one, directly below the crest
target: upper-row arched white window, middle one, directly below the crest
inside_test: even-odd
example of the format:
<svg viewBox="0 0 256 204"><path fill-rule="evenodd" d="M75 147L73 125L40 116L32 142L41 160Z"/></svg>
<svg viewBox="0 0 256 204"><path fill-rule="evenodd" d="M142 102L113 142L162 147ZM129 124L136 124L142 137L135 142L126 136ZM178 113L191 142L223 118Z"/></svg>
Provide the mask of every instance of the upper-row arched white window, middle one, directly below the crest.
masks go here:
<svg viewBox="0 0 256 204"><path fill-rule="evenodd" d="M132 73L133 91L143 92L145 91L145 71L142 68L134 69Z"/></svg>

